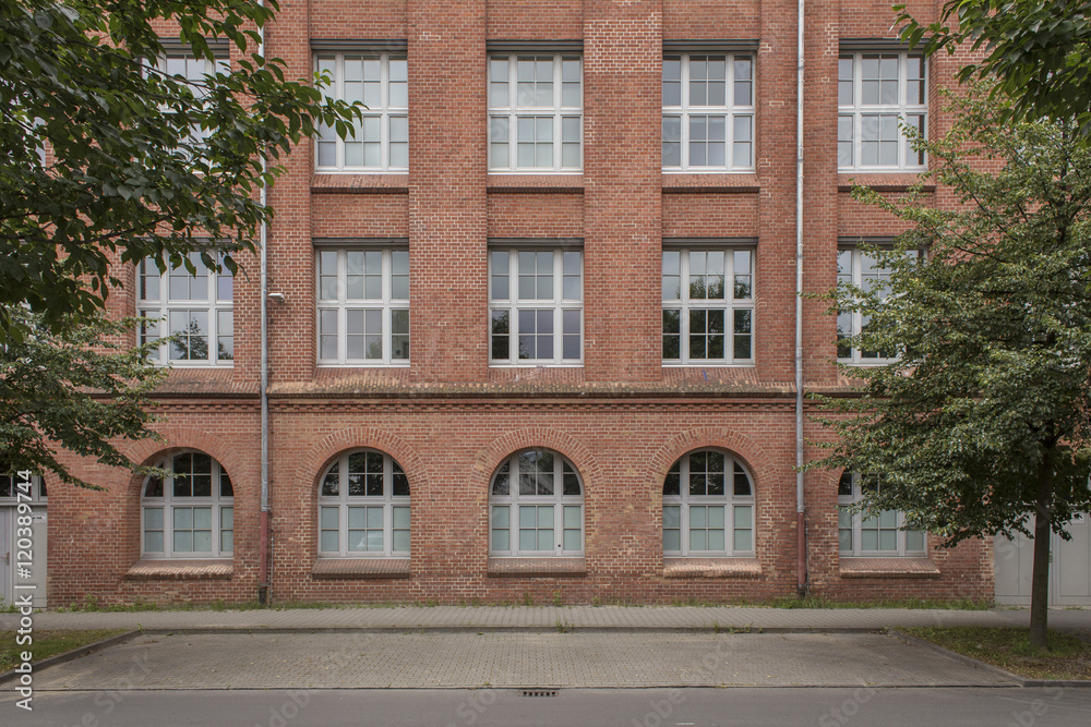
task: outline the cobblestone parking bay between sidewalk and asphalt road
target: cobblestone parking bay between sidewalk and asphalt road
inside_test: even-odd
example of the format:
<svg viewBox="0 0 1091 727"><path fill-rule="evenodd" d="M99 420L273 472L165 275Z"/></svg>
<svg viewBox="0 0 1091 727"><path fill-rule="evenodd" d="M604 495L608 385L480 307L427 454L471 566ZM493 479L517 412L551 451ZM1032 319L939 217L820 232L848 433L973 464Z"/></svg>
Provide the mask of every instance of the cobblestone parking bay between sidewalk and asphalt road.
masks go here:
<svg viewBox="0 0 1091 727"><path fill-rule="evenodd" d="M36 675L36 690L993 686L878 633L145 633Z"/></svg>

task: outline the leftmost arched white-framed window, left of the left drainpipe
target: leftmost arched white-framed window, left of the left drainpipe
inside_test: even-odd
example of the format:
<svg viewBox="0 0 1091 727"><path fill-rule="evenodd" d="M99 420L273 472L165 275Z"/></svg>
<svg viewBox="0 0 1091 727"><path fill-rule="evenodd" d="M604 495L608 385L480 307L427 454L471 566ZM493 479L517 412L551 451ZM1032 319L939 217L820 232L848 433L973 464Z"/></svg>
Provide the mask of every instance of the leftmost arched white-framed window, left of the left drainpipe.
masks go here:
<svg viewBox="0 0 1091 727"><path fill-rule="evenodd" d="M235 489L219 462L200 451L173 455L148 475L141 496L142 558L229 558Z"/></svg>

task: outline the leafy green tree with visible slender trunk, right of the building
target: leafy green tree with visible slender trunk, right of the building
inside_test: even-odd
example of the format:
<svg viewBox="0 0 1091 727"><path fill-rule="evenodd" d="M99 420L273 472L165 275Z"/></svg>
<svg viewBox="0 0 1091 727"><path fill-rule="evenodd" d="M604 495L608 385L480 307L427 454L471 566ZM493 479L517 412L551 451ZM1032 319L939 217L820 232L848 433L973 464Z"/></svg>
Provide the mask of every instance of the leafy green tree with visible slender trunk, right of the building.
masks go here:
<svg viewBox="0 0 1091 727"><path fill-rule="evenodd" d="M1091 150L1078 122L1011 123L990 94L954 99L950 133L915 141L954 209L856 191L914 227L873 251L889 291L831 296L870 317L848 346L900 359L842 366L860 386L815 397L837 434L816 465L878 475L864 508L902 510L944 546L1030 535L1033 514L1031 641L1045 647L1050 533L1067 538L1091 507Z"/></svg>

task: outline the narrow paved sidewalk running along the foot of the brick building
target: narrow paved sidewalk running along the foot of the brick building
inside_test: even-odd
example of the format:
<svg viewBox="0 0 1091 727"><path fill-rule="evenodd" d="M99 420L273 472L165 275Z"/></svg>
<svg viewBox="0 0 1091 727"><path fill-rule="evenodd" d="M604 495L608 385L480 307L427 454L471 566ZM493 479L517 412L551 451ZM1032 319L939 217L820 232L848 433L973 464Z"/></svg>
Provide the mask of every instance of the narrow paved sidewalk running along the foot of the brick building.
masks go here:
<svg viewBox="0 0 1091 727"><path fill-rule="evenodd" d="M0 630L17 627L19 614L0 614ZM396 606L287 610L92 611L34 615L35 629L374 629L685 631L858 631L885 627L1027 626L1030 610L908 608L760 608L741 606ZM1053 609L1050 627L1091 637L1091 610Z"/></svg>

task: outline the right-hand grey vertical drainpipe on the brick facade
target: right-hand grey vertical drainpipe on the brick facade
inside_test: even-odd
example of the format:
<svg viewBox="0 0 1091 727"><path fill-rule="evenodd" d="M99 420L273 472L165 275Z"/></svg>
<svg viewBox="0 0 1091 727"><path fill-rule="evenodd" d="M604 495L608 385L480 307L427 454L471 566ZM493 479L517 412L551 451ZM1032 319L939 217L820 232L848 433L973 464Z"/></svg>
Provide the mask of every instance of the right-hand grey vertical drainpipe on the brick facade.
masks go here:
<svg viewBox="0 0 1091 727"><path fill-rule="evenodd" d="M807 589L806 509L803 502L803 9L796 11L795 52L795 590Z"/></svg>

